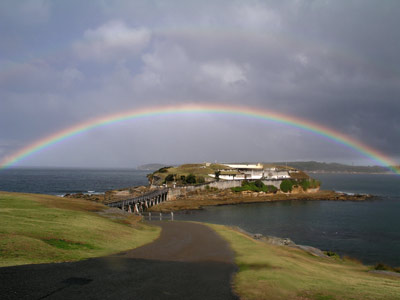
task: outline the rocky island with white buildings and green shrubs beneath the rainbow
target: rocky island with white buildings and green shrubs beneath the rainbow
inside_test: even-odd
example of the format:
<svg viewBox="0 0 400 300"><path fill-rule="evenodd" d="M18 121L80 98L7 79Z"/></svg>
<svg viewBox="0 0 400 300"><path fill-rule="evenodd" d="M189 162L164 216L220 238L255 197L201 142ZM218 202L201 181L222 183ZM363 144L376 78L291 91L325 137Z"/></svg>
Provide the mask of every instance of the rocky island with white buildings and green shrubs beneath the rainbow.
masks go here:
<svg viewBox="0 0 400 300"><path fill-rule="evenodd" d="M321 182L292 166L264 163L196 163L163 166L147 175L148 186L107 191L104 195L71 194L104 204L168 189L168 201L148 211L184 211L212 205L285 200L362 201L371 195L321 190Z"/></svg>

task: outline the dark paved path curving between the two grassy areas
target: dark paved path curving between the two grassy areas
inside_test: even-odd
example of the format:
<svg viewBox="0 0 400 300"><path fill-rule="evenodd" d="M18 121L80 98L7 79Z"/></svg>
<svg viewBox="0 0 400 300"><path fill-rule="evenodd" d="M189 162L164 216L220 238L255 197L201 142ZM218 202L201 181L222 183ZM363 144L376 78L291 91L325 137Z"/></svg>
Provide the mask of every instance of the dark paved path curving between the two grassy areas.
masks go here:
<svg viewBox="0 0 400 300"><path fill-rule="evenodd" d="M224 240L201 224L153 223L160 238L125 253L0 268L1 299L237 299Z"/></svg>

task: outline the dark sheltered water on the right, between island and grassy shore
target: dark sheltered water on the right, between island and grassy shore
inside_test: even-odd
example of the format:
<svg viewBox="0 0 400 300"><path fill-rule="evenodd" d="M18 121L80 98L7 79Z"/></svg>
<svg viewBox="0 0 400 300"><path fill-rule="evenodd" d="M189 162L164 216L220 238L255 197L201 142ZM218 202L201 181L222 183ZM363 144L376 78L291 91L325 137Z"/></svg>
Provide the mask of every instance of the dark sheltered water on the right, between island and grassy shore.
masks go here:
<svg viewBox="0 0 400 300"><path fill-rule="evenodd" d="M176 215L239 226L252 233L288 237L367 264L400 266L400 176L311 174L324 189L375 195L367 201L280 201L205 207Z"/></svg>

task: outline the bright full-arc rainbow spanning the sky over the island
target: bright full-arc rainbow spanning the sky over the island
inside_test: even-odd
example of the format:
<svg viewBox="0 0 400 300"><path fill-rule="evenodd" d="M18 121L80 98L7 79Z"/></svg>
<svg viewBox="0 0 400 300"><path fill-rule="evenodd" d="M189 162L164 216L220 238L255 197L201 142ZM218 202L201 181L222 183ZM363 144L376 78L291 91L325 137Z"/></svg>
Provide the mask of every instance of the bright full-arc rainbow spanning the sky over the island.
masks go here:
<svg viewBox="0 0 400 300"><path fill-rule="evenodd" d="M255 109L244 106L233 105L217 105L217 104L185 104L185 105L171 105L171 106L156 106L142 109L134 109L127 112L116 113L93 120L85 121L75 126L66 128L55 134L40 139L14 153L10 157L6 157L0 163L0 169L8 168L24 158L39 152L47 147L59 143L69 137L73 137L82 132L89 131L93 128L100 126L107 126L114 123L123 122L131 119L139 119L144 117L156 117L169 114L188 114L188 113L206 113L206 114L225 114L237 115L261 120L269 120L289 126L297 127L309 132L313 132L319 136L328 138L331 141L347 146L356 150L362 155L373 159L378 164L383 165L396 174L400 174L400 168L395 167L396 163L389 157L380 153L360 141L357 141L345 134L335 131L331 128L325 127L311 121L297 118L290 115L284 115L270 110Z"/></svg>

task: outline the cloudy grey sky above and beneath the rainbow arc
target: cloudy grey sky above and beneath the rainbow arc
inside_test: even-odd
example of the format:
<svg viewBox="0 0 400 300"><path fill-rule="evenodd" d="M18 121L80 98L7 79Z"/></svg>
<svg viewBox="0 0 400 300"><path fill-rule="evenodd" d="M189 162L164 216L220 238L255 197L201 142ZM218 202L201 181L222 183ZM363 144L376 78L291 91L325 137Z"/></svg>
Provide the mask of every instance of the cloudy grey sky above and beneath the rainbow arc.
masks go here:
<svg viewBox="0 0 400 300"><path fill-rule="evenodd" d="M400 163L400 1L0 0L0 161L124 111L241 105L329 127ZM303 161L374 165L332 140L235 115L160 115L17 166Z"/></svg>

